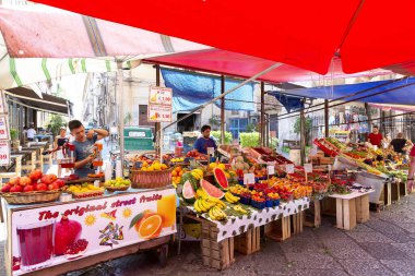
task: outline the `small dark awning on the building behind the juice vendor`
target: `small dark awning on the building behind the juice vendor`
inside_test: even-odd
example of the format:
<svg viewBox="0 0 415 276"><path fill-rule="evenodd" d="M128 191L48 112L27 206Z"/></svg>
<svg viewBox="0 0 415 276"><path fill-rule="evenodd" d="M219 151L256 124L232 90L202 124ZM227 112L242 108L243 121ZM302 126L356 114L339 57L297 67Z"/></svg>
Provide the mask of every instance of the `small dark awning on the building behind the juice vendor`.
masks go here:
<svg viewBox="0 0 415 276"><path fill-rule="evenodd" d="M15 97L22 106L42 110L50 113L59 113L63 116L72 115L72 104L64 98L56 97L49 94L42 94L42 97L34 91L25 87L15 87L7 89L5 94L9 96L10 101L14 101L11 97Z"/></svg>

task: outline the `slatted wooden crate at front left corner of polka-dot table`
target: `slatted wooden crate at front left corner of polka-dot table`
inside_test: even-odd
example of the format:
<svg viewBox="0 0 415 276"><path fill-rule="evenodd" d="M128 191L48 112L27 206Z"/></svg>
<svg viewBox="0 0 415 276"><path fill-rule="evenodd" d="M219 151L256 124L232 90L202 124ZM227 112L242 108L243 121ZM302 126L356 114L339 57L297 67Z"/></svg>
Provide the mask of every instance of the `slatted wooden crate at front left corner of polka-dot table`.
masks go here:
<svg viewBox="0 0 415 276"><path fill-rule="evenodd" d="M201 251L203 264L216 269L225 269L234 262L234 238L217 242L215 225L202 223Z"/></svg>

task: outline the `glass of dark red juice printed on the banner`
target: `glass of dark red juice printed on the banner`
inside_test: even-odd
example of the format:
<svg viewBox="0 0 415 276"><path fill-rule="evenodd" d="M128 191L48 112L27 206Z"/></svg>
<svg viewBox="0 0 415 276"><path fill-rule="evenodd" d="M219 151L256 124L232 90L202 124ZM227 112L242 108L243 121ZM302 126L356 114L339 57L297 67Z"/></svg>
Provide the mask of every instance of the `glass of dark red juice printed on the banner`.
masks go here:
<svg viewBox="0 0 415 276"><path fill-rule="evenodd" d="M21 269L48 266L54 255L55 219L16 227Z"/></svg>

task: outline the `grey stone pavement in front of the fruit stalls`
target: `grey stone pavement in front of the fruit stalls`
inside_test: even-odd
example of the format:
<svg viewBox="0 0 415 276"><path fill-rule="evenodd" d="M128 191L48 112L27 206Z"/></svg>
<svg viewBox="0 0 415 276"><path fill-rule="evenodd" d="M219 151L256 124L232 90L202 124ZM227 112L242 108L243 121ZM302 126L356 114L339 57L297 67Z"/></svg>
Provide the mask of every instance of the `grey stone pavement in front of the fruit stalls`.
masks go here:
<svg viewBox="0 0 415 276"><path fill-rule="evenodd" d="M261 251L236 254L235 264L224 272L202 265L197 242L183 243L182 253L170 256L161 268L155 254L124 256L66 276L132 275L415 275L415 194L401 199L352 231L334 228L324 218L318 229L284 242L266 240ZM1 248L2 250L2 248ZM0 260L2 262L2 260Z"/></svg>

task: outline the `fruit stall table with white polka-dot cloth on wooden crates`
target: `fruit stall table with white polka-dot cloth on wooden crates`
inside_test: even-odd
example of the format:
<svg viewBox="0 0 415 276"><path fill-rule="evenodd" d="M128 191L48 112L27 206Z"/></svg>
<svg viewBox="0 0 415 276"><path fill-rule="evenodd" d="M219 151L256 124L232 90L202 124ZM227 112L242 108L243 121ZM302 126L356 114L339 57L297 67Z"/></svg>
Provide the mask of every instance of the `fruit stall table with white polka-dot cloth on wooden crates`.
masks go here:
<svg viewBox="0 0 415 276"><path fill-rule="evenodd" d="M208 214L195 215L192 206L181 206L179 232L181 232L182 217L194 219L201 223L201 251L203 264L217 269L225 269L235 262L234 250L244 254L251 254L259 251L260 226L270 225L278 220L283 221L283 227L288 227L290 235L290 217L293 217L294 232L298 233L303 229L303 211L309 207L308 197L281 203L280 206L265 207L263 209L251 209L249 215L229 216L227 220L212 220ZM272 231L272 227L269 227ZM272 233L270 232L272 236ZM285 237L287 238L287 237ZM284 237L282 237L284 239ZM179 236L179 250L181 236ZM179 251L180 253L180 251Z"/></svg>

